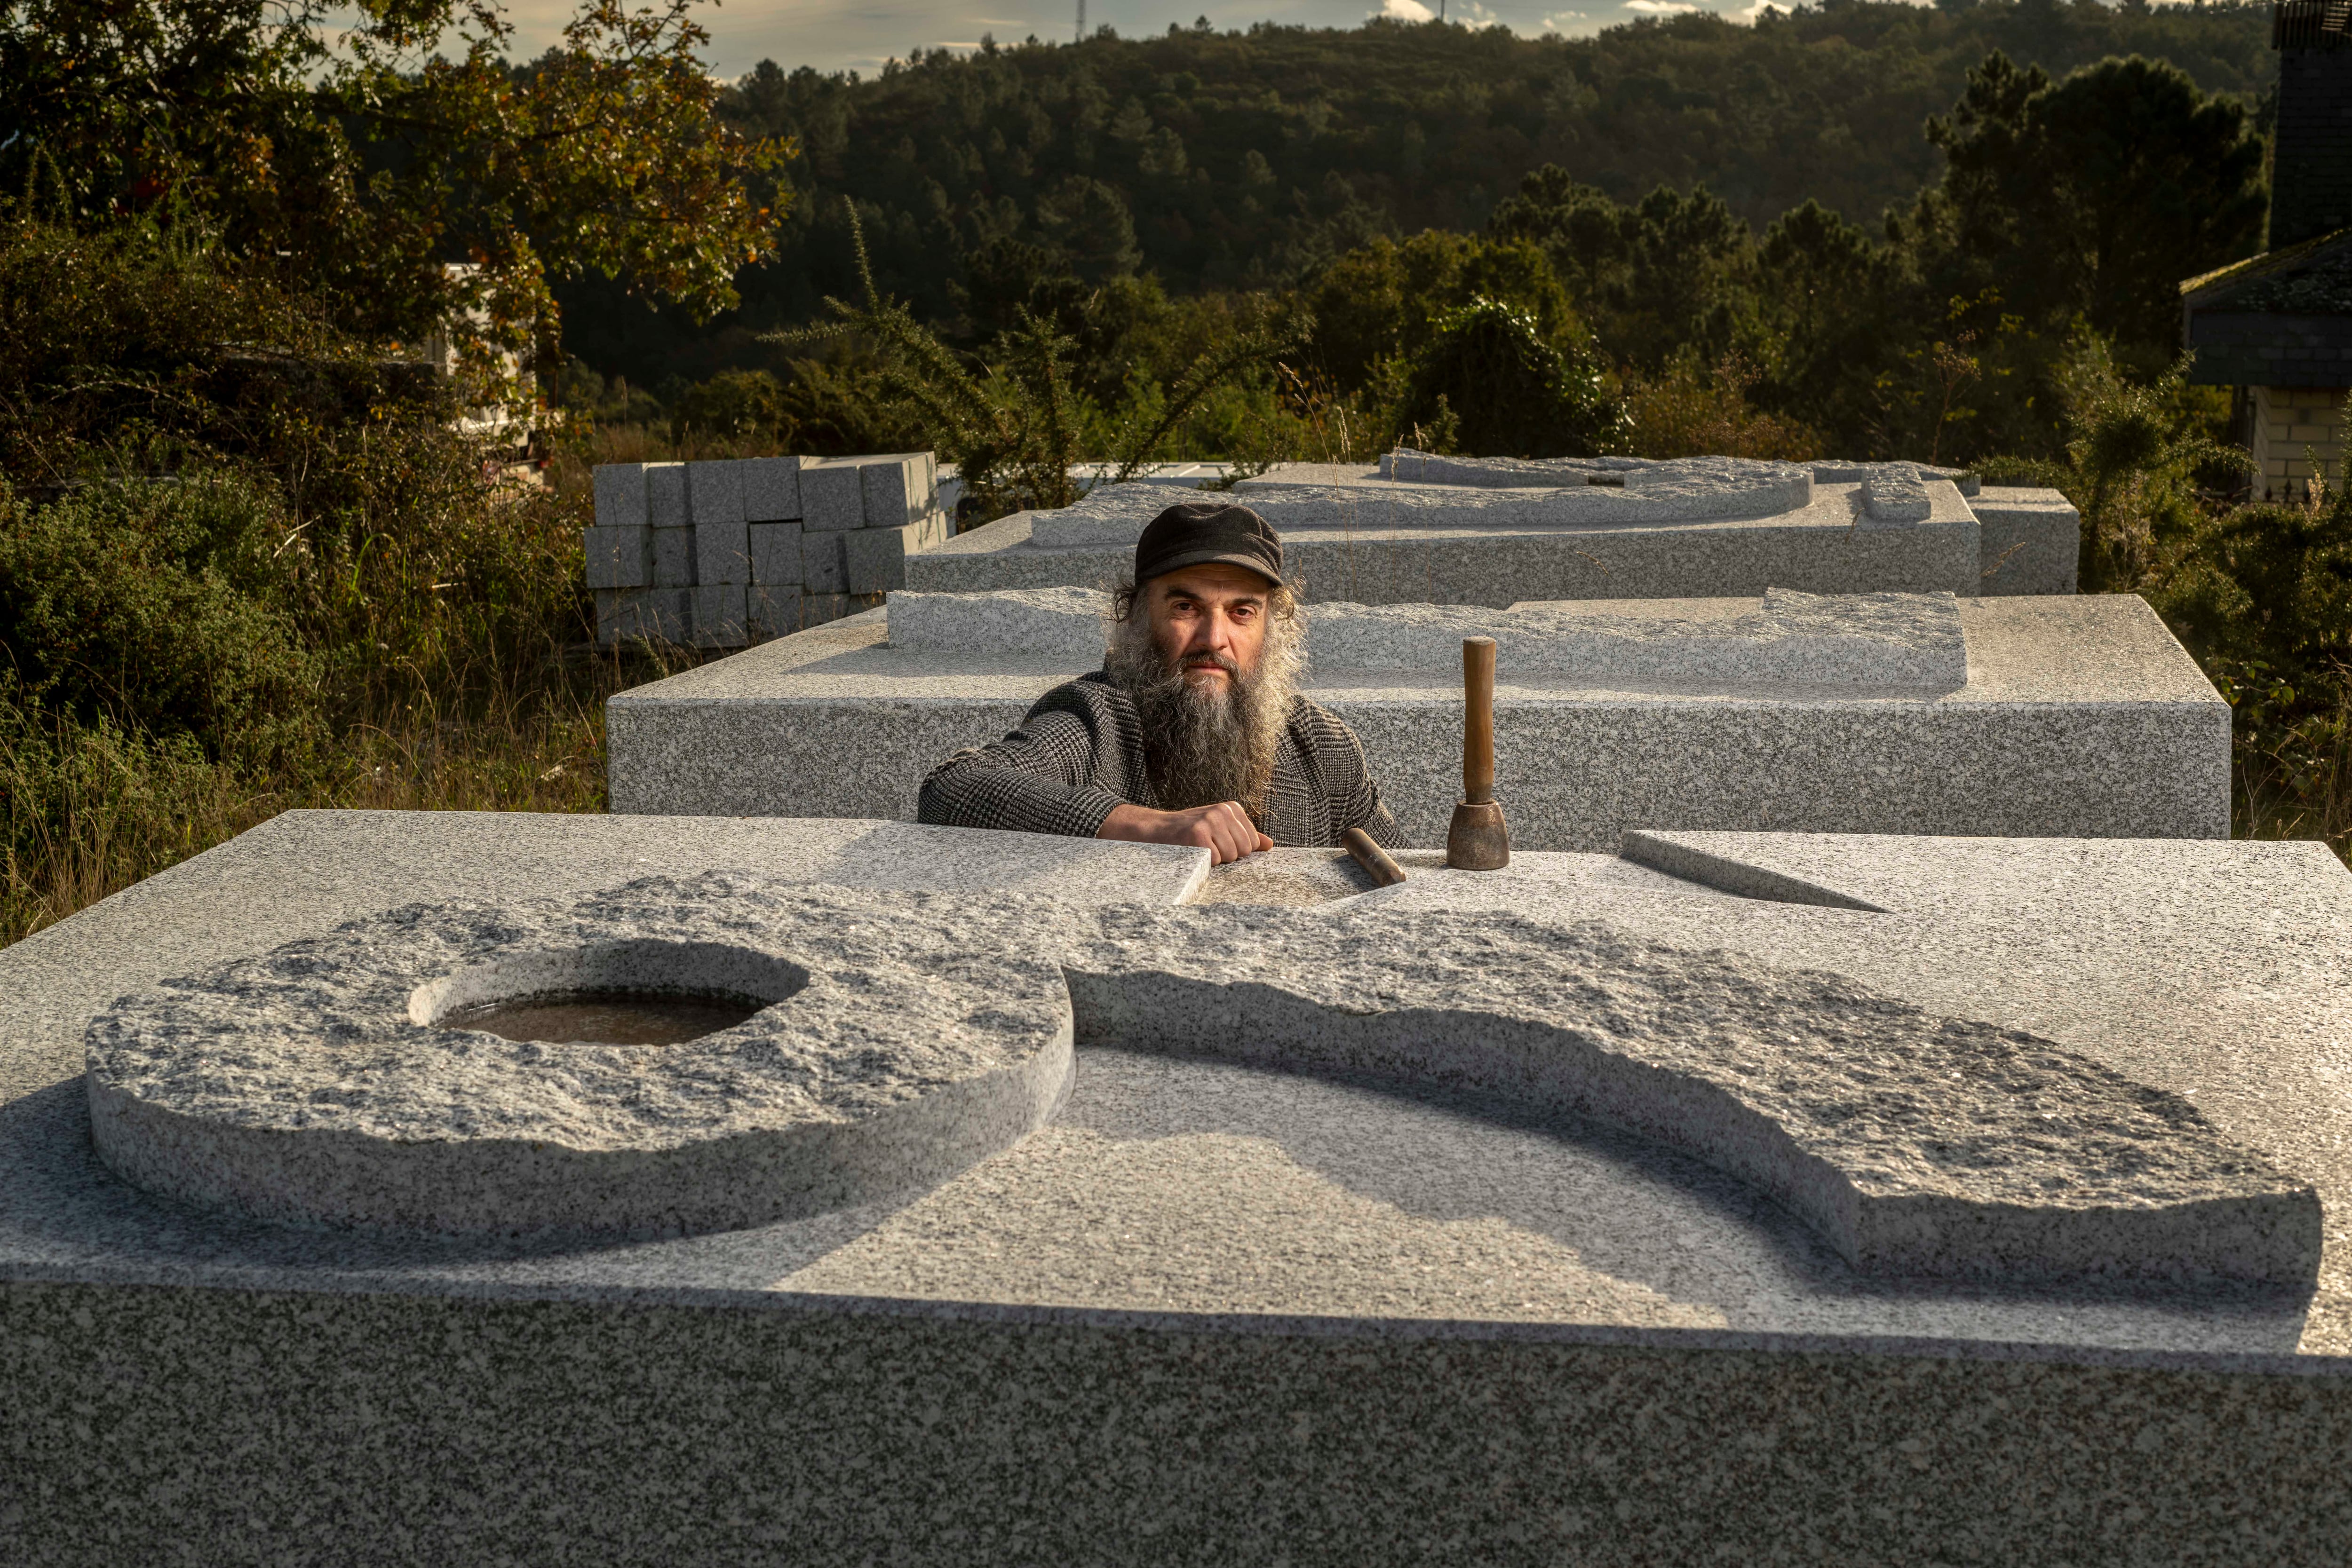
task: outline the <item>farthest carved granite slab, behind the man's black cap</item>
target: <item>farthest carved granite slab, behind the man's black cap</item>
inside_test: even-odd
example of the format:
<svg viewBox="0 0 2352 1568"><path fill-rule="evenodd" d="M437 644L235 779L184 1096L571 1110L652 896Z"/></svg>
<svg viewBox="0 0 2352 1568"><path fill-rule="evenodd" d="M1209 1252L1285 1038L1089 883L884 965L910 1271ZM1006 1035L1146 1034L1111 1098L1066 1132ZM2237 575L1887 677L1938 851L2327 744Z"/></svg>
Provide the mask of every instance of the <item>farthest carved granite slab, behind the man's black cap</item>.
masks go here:
<svg viewBox="0 0 2352 1568"><path fill-rule="evenodd" d="M1573 484L1508 473L1529 480L1510 487L1395 482L1374 468L1284 463L1240 482L1237 498L1282 531L1287 562L1310 599L1501 609L1519 599L1672 599L1766 588L2074 592L2079 524L2053 494L1978 491L1962 477L1964 494L1950 470L1919 465L1595 463L1616 468L1588 475L1578 465ZM1919 475L1924 520L1917 496L1905 508L1882 508L1884 515L1870 510L1870 475L1893 482L1898 473ZM1588 484L1590 477L1606 482ZM1061 512L1016 512L927 550L908 567L908 588L1108 585L1129 571L1136 534L1167 503L1160 487L1101 487ZM1994 515L1992 524L1980 522L1978 505ZM1985 527L1994 527L1990 545Z"/></svg>

